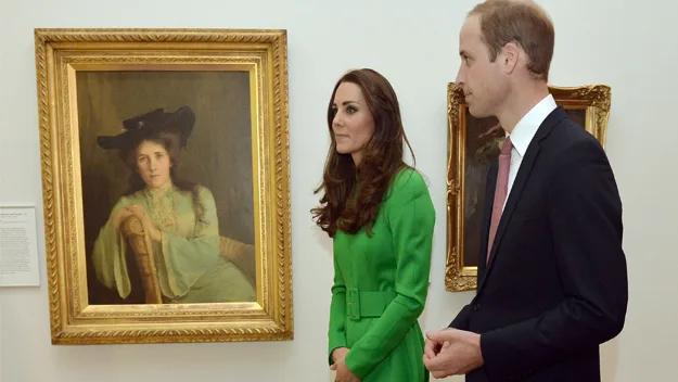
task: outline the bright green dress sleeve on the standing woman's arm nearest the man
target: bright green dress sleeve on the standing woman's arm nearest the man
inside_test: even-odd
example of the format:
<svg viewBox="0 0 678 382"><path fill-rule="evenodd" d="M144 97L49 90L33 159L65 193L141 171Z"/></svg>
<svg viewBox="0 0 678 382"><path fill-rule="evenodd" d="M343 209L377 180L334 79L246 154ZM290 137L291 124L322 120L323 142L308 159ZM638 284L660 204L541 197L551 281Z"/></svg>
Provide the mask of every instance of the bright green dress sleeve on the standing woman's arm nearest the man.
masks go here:
<svg viewBox="0 0 678 382"><path fill-rule="evenodd" d="M396 255L396 297L346 356L346 366L363 380L417 323L428 291L435 209L418 173L396 181L385 214ZM412 176L409 176L412 174Z"/></svg>

